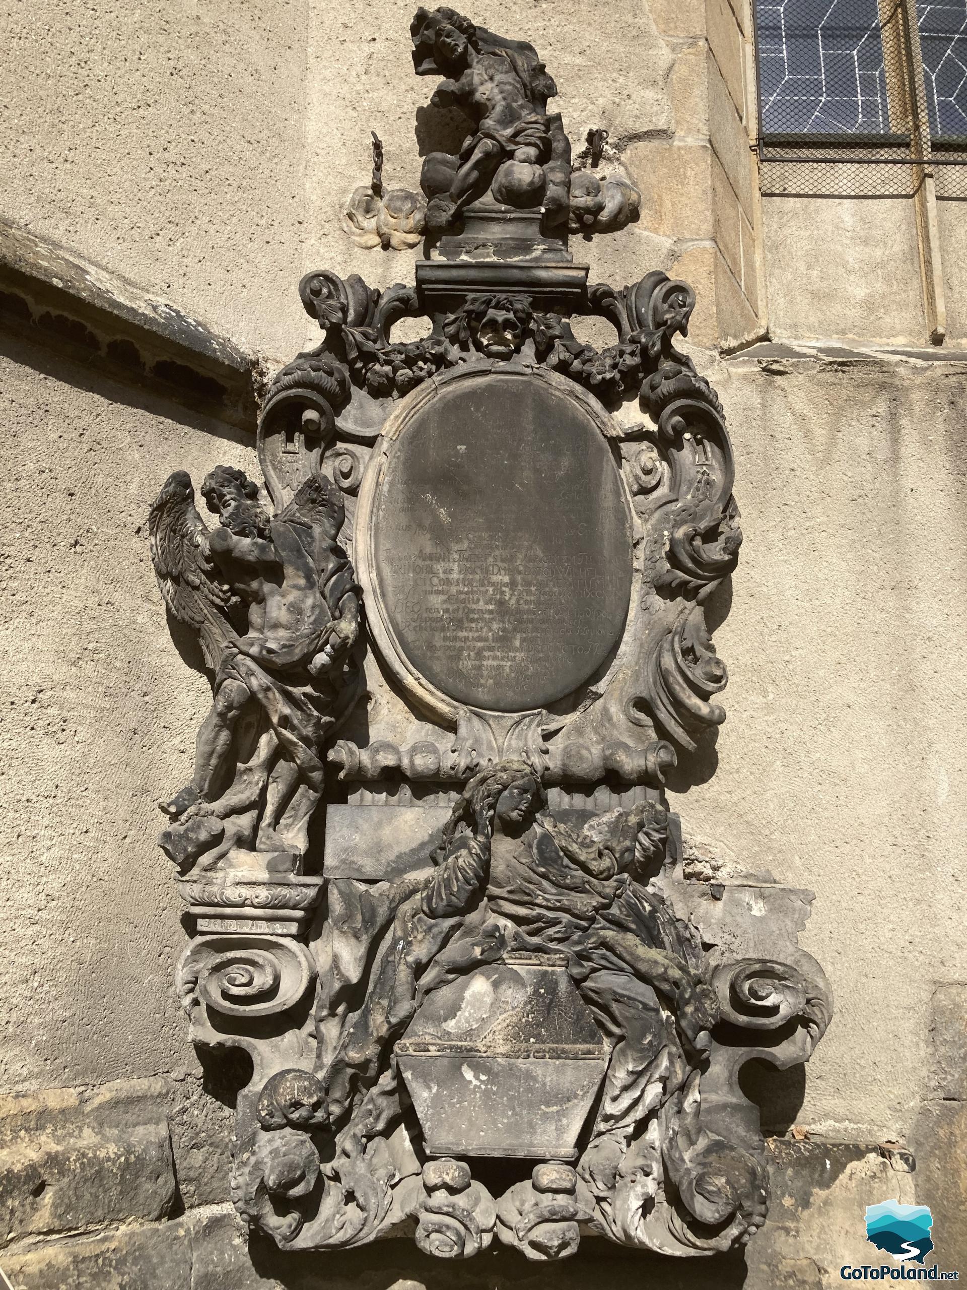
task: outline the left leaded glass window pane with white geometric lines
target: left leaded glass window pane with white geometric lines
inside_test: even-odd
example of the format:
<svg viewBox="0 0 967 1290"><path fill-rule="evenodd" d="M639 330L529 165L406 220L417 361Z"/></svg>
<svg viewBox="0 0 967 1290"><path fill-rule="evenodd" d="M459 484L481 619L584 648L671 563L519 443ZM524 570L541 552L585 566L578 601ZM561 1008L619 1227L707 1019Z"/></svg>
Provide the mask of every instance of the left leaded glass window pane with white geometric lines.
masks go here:
<svg viewBox="0 0 967 1290"><path fill-rule="evenodd" d="M763 133L890 132L877 0L757 0L756 18Z"/></svg>

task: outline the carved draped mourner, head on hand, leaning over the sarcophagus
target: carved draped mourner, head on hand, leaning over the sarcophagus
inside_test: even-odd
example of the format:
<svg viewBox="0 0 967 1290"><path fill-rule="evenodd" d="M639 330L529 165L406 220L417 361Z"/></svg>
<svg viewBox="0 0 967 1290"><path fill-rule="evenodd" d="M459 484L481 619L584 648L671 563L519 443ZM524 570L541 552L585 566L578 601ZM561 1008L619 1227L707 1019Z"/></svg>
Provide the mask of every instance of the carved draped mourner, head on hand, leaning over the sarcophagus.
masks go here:
<svg viewBox="0 0 967 1290"><path fill-rule="evenodd" d="M468 784L432 877L330 881L316 946L317 1075L339 1149L349 1161L367 1143L378 1153L398 1124L392 1046L431 991L508 951L565 953L612 1044L583 1164L605 1226L632 1244L681 1253L698 1219L721 1228L708 1240L726 1249L758 1222L759 1173L698 1120L698 1067L718 1002L695 930L638 880L664 853L665 813L654 804L614 810L579 835L543 805L530 768L504 762ZM646 1122L652 1131L634 1147ZM668 1204L646 1218L664 1169L691 1197L685 1223Z"/></svg>

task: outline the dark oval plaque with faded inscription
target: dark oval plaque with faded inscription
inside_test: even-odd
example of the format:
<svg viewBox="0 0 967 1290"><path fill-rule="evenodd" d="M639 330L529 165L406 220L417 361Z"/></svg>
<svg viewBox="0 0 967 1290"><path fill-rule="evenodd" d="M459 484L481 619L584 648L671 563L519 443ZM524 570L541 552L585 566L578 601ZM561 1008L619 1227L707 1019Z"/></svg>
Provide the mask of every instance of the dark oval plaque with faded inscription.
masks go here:
<svg viewBox="0 0 967 1290"><path fill-rule="evenodd" d="M593 413L529 373L442 383L389 445L374 574L410 664L458 703L547 707L615 648L630 519Z"/></svg>

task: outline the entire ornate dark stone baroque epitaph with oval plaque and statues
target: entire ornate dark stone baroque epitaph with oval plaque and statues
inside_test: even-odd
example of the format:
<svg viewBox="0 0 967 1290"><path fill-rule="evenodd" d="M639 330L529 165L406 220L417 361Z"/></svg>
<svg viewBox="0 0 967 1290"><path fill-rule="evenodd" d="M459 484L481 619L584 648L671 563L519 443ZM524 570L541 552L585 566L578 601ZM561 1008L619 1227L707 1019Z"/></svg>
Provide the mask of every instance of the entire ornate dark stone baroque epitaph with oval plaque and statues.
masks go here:
<svg viewBox="0 0 967 1290"><path fill-rule="evenodd" d="M569 232L637 194L572 165L531 45L451 9L411 40L471 124L386 197L415 286L307 275L264 489L213 471L209 529L177 472L151 513L213 676L161 845L192 1038L251 1057L232 1198L290 1250L725 1251L768 1204L741 1069L806 1060L832 1005L811 894L694 877L664 792L725 720L705 605L741 541L694 297L588 285ZM392 214L376 170L351 230Z"/></svg>

